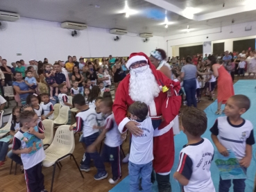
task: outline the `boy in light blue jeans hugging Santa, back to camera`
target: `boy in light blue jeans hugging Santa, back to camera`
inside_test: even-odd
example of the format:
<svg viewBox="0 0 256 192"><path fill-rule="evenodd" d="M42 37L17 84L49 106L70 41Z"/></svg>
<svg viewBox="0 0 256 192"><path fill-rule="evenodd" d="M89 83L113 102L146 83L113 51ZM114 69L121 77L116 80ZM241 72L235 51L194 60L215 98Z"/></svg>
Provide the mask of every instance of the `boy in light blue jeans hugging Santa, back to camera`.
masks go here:
<svg viewBox="0 0 256 192"><path fill-rule="evenodd" d="M153 170L153 132L151 118L148 116L148 105L136 101L128 108L130 119L139 123L143 130L140 137L132 136L129 156L130 192L139 191L139 175L142 175L143 191L152 191L151 173Z"/></svg>

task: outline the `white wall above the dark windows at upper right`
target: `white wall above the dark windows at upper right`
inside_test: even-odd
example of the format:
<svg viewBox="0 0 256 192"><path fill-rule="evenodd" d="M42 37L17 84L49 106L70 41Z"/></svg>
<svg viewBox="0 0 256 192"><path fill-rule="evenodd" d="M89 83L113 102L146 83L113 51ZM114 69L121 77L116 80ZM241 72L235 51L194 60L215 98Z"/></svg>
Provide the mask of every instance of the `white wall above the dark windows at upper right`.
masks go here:
<svg viewBox="0 0 256 192"><path fill-rule="evenodd" d="M252 30L245 31L246 26L252 26ZM222 32L220 32L222 31ZM203 42L225 42L225 50L233 51L233 40L245 40L256 37L256 21L244 24L237 24L232 26L233 33L230 33L231 26L224 26L221 28L212 28L207 30L200 30L190 33L180 33L179 35L171 35L164 37L167 41L168 55L172 56L173 51L171 47L189 44L203 44ZM208 38L207 38L208 37ZM176 55L173 55L176 56Z"/></svg>

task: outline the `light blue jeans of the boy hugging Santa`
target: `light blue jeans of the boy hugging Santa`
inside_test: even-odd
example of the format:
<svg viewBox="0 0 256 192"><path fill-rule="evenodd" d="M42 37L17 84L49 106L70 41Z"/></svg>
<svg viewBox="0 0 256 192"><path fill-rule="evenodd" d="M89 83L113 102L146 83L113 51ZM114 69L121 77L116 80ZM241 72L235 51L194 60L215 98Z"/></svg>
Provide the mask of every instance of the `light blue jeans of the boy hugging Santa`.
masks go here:
<svg viewBox="0 0 256 192"><path fill-rule="evenodd" d="M130 192L139 191L139 175L142 175L142 191L152 191L151 173L153 170L152 162L148 164L133 164L128 165L130 175Z"/></svg>

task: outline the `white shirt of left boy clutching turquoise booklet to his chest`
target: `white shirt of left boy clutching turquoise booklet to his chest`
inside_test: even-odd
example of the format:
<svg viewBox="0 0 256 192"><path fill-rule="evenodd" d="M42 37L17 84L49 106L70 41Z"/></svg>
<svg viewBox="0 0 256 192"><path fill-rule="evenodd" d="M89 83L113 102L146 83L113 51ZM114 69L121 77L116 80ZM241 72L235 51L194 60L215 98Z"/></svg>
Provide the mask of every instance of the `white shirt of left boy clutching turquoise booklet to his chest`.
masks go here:
<svg viewBox="0 0 256 192"><path fill-rule="evenodd" d="M38 131L40 133L44 132L44 130L40 129L39 127L38 127ZM12 143L13 150L26 148L26 142L23 141L22 139L24 137L23 134L24 132L22 132L22 130L19 130L13 137L13 143ZM39 150L37 150L37 152L35 152L32 155L23 153L21 157L22 157L22 163L23 163L24 169L27 170L44 160L45 158L44 148L40 148Z"/></svg>

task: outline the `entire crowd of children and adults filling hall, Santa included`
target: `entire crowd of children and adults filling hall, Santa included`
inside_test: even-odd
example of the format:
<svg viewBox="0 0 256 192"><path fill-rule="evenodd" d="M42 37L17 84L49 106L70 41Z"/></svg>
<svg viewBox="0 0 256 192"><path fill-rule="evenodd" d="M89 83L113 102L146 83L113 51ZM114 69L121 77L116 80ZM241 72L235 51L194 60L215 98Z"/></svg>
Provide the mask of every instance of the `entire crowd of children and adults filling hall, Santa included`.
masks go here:
<svg viewBox="0 0 256 192"><path fill-rule="evenodd" d="M59 60L54 64L49 64L47 58L44 62L30 60L30 64L20 60L13 62L12 68L1 59L1 93L4 96L4 87L12 85L17 106L12 109L12 139L9 141L12 150L8 152L9 143L0 141L0 166L5 163L7 154L21 165L28 191L46 192L42 174L45 157L42 121L53 119L53 105L58 102L60 107L77 110L76 126L71 125L70 113L67 124L71 125L70 131L83 132L79 141L85 152L81 152L80 170L89 172L93 159L97 169L95 180L108 177L103 164L107 161L112 171L108 181L110 184L119 181L121 144L129 131L129 153L123 162L128 163L131 192L151 191L155 180L160 192L170 192L175 158L179 158L179 165L173 177L185 191L214 192L210 173L214 148L210 140L201 137L207 129L207 116L196 108L197 102L200 102L203 91L214 101L217 81L216 114L222 113L221 105L225 104L226 116L219 117L212 125L212 141L224 156L228 156L227 149L234 150L241 166L248 168L255 140L252 123L241 118L241 114L250 108L250 100L244 95L234 95L232 72L242 71L240 69L247 65L248 70L252 69L248 73L255 76L255 52L251 51L250 55L250 58L244 58L244 55L241 58L239 55L237 58L235 55L233 58L231 55L223 58L205 55L202 58L200 54L179 62L178 58L167 59L164 50L155 49L149 57L144 53L132 53L128 60L110 55L108 59L102 58L101 63L98 59L92 62L84 58L78 62L76 56L68 56L66 62ZM236 60L239 60L238 64ZM112 83L114 103L110 92ZM188 107L182 111L180 126L178 116L182 98ZM0 102L6 103L1 97ZM175 157L173 137L180 129L186 134L188 143L180 157ZM37 138L33 146L28 146L25 134L26 139ZM241 135L243 142L234 141ZM100 155L96 146L104 138ZM234 191L245 191L244 179L233 181L233 184ZM230 185L231 180L220 179L219 190L228 191Z"/></svg>

